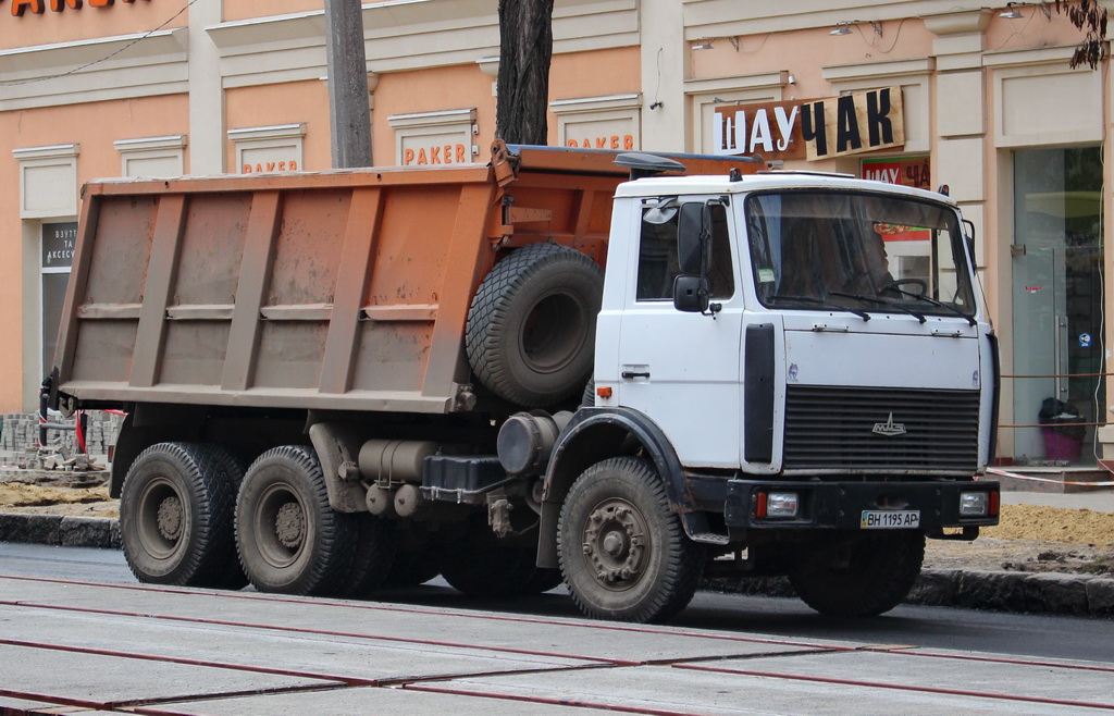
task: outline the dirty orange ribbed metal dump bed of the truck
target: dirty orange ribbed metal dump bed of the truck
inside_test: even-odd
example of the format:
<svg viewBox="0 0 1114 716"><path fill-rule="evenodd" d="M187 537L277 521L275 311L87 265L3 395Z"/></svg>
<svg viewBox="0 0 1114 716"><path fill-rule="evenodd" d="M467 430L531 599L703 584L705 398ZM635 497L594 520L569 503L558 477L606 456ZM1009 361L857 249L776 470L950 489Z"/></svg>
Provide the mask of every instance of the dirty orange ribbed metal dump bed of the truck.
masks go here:
<svg viewBox="0 0 1114 716"><path fill-rule="evenodd" d="M471 296L539 241L603 264L614 153L85 187L56 363L87 402L443 413ZM675 156L691 174L739 159Z"/></svg>

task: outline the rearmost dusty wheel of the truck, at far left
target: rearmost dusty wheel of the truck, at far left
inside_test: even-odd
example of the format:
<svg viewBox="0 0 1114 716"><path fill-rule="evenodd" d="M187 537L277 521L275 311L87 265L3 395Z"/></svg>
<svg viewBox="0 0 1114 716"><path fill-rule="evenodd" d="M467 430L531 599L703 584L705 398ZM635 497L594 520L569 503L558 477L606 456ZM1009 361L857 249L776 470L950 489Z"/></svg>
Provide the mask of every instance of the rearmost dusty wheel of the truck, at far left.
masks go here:
<svg viewBox="0 0 1114 716"><path fill-rule="evenodd" d="M190 587L222 583L235 553L235 493L198 445L163 442L131 463L120 492L120 537L141 582Z"/></svg>

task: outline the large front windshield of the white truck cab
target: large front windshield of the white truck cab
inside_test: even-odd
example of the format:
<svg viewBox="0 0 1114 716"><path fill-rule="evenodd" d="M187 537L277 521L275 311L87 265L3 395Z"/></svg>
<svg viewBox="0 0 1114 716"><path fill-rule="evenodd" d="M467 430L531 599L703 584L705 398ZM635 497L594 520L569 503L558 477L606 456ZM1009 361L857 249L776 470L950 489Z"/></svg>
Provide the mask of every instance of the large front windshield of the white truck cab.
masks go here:
<svg viewBox="0 0 1114 716"><path fill-rule="evenodd" d="M850 192L758 194L746 232L759 301L774 308L960 315L975 298L944 205Z"/></svg>

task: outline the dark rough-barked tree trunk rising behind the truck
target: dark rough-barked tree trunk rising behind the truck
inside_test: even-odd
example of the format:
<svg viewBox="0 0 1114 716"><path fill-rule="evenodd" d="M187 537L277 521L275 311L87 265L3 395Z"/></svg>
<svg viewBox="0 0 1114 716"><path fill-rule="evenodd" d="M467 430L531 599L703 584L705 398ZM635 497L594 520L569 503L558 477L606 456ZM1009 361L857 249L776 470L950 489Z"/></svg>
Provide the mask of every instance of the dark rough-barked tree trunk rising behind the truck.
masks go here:
<svg viewBox="0 0 1114 716"><path fill-rule="evenodd" d="M499 97L496 136L546 144L554 0L499 0Z"/></svg>

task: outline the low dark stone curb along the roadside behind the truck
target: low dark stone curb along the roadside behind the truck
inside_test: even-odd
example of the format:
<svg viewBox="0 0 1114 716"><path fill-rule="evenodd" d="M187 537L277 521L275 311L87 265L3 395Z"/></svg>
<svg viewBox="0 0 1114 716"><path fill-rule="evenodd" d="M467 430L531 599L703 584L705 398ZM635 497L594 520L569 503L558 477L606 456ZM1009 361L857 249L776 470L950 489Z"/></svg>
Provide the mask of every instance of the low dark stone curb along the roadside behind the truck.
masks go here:
<svg viewBox="0 0 1114 716"><path fill-rule="evenodd" d="M0 512L0 542L120 549L119 520ZM702 589L764 597L795 597L784 577L705 579ZM1114 579L1057 572L926 569L906 604L994 611L1114 616Z"/></svg>

